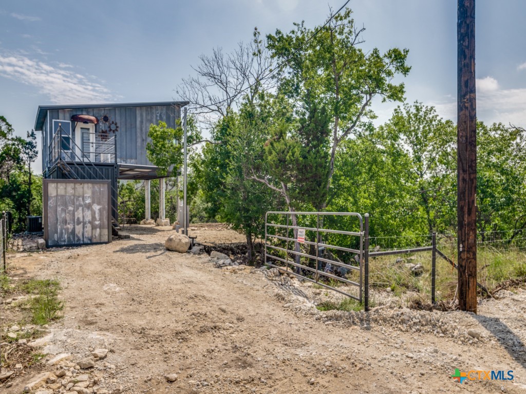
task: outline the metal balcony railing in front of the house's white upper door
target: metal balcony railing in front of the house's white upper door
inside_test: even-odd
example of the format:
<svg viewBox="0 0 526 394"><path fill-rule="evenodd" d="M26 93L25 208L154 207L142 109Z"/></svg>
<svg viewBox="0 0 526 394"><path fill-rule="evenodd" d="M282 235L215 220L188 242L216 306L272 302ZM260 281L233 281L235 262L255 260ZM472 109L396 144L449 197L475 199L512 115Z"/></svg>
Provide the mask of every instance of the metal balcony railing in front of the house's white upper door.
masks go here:
<svg viewBox="0 0 526 394"><path fill-rule="evenodd" d="M58 159L91 163L117 162L117 139L114 134L83 131L80 140L75 137L62 128L56 130L48 147L49 165Z"/></svg>

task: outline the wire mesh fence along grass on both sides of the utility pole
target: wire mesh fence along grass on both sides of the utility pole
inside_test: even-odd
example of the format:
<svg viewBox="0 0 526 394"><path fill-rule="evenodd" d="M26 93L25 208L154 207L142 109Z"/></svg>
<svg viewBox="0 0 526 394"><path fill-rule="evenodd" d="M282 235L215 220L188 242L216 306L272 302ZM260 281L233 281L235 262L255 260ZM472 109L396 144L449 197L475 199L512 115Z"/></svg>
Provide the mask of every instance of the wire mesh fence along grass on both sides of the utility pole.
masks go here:
<svg viewBox="0 0 526 394"><path fill-rule="evenodd" d="M369 264L370 286L385 289L396 295L410 294L431 299L433 277L436 281L436 300L456 298L457 234L437 234L436 271L433 275L432 235L373 236ZM413 250L410 253L392 253ZM498 291L507 282L526 282L526 229L486 231L477 234L477 282L482 294Z"/></svg>

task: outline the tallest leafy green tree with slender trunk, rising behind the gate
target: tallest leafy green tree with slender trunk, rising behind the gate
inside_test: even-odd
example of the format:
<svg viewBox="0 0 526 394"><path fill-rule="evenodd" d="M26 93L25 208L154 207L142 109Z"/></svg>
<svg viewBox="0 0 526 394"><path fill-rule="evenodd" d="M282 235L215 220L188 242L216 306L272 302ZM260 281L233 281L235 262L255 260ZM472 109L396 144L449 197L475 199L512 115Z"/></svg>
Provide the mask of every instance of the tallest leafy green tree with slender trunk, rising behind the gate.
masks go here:
<svg viewBox="0 0 526 394"><path fill-rule="evenodd" d="M393 84L393 78L406 76L410 70L407 49L391 48L385 54L377 48L367 53L362 50L364 29L356 27L351 14L349 8L334 16L331 11L333 18L325 26L307 29L304 23L296 23L288 34L276 30L275 35L267 36L270 52L281 65L281 94L295 103L299 112L305 110L307 102L317 103L318 108L326 108L330 118L327 197L318 204L321 209L329 202L340 143L367 129L375 118L373 99L403 100L404 85Z"/></svg>

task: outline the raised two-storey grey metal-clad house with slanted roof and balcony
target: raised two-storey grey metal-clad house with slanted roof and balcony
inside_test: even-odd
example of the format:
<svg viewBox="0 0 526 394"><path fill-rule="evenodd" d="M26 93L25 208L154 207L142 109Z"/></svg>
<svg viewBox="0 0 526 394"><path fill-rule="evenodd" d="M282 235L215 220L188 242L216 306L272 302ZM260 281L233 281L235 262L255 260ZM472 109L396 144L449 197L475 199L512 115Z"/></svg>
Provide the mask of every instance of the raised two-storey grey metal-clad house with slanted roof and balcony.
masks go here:
<svg viewBox="0 0 526 394"><path fill-rule="evenodd" d="M39 106L47 246L110 242L118 228L118 180L163 177L146 157L150 125L175 128L186 101ZM164 194L164 188L161 188ZM163 196L164 197L164 196ZM164 218L164 198L159 211Z"/></svg>

